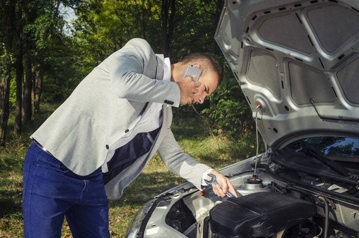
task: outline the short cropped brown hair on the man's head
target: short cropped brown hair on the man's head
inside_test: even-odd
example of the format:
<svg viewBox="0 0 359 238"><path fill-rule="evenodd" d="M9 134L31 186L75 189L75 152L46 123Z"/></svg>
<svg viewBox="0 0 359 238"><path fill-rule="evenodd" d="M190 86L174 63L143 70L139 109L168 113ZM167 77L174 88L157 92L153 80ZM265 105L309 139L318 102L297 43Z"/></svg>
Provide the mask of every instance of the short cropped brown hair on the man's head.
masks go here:
<svg viewBox="0 0 359 238"><path fill-rule="evenodd" d="M196 61L201 63L200 68L202 69L203 73L205 73L207 71L213 71L213 72L217 73L218 80L219 80L219 78L221 77L221 74L222 74L221 66L219 65L217 60L213 59L213 57L211 57L208 54L191 53L191 54L185 56L179 62L182 64L187 64L187 63L196 62Z"/></svg>

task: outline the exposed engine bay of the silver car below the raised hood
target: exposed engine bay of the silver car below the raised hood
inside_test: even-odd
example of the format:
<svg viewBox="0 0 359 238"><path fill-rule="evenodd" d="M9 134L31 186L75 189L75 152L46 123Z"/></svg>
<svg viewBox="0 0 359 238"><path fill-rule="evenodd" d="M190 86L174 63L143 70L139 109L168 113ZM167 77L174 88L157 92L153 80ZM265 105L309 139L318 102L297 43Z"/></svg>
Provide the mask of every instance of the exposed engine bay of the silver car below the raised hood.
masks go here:
<svg viewBox="0 0 359 238"><path fill-rule="evenodd" d="M217 197L212 187L186 186L159 195L142 224L142 237L358 237L359 170L353 166L350 179L326 174L315 170L320 165L315 160L299 163L293 154L283 166L281 156L287 153L293 152L258 156L258 183L248 182L255 157L224 168L238 198Z"/></svg>

